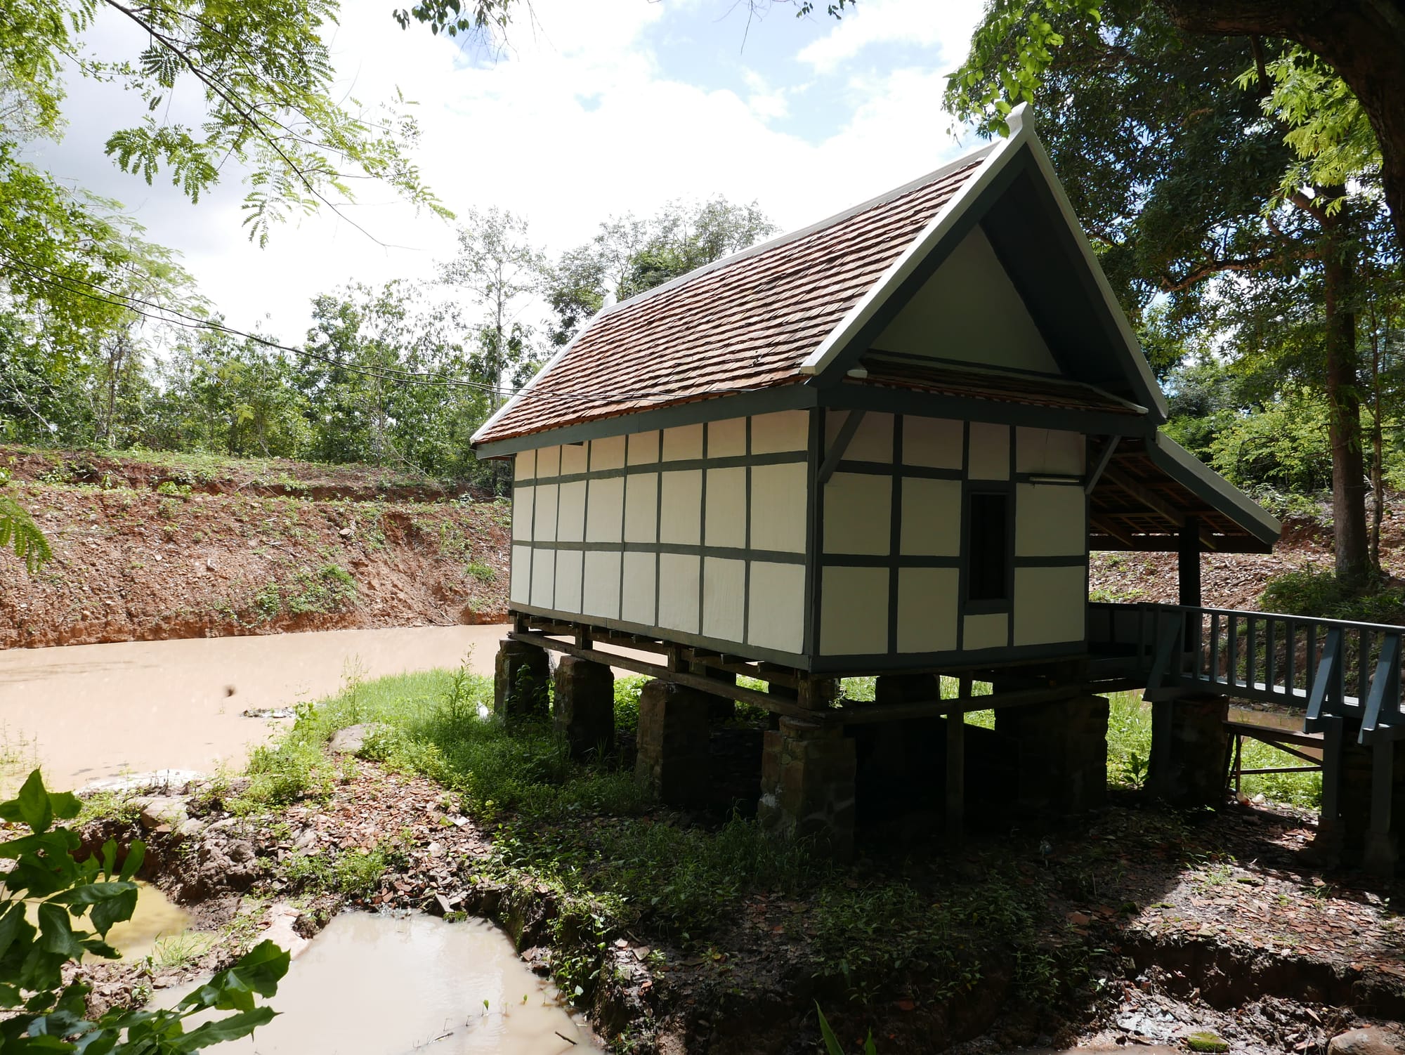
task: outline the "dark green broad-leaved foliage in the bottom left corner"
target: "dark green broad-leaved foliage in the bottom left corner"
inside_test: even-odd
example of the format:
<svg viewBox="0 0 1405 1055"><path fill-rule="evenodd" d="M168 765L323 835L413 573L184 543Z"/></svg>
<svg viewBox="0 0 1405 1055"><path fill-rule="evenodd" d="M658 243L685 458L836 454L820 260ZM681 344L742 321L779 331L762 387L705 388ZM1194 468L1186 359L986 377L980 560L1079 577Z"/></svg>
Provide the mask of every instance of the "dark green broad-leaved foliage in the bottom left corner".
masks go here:
<svg viewBox="0 0 1405 1055"><path fill-rule="evenodd" d="M65 985L65 968L84 955L117 958L105 937L132 917L145 847L133 843L121 867L117 843L108 840L101 857L79 861L79 836L55 820L79 815L81 804L67 792L53 794L35 770L20 794L0 802L0 818L30 830L0 846L10 861L0 907L0 1048L14 1052L126 1052L177 1055L222 1041L247 1037L274 1013L256 997L270 997L288 971L288 954L264 941L235 966L221 971L171 1010L112 1009L87 1017L90 986ZM38 927L27 903L37 905ZM74 927L87 917L93 930ZM185 1031L185 1020L207 1010L232 1011Z"/></svg>

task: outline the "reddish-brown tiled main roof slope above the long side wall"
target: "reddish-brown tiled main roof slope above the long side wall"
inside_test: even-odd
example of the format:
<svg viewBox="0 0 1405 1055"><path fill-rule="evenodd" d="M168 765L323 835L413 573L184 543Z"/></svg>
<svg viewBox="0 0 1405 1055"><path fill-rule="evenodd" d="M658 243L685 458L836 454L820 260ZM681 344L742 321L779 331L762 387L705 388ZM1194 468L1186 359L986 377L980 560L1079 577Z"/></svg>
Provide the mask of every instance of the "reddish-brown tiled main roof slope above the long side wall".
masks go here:
<svg viewBox="0 0 1405 1055"><path fill-rule="evenodd" d="M984 157L601 312L475 441L801 381L805 357Z"/></svg>

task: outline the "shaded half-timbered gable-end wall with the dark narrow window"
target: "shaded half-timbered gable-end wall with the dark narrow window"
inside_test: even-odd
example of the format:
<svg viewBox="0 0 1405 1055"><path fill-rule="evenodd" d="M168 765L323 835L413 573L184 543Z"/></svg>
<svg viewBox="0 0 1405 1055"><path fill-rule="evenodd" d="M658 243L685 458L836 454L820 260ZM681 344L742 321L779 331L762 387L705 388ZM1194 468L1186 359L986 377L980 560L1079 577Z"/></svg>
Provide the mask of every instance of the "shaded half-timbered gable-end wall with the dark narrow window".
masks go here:
<svg viewBox="0 0 1405 1055"><path fill-rule="evenodd" d="M844 412L828 412L825 455ZM823 487L818 655L932 656L1083 641L1083 437L864 414ZM1006 597L969 600L971 496L1006 496Z"/></svg>

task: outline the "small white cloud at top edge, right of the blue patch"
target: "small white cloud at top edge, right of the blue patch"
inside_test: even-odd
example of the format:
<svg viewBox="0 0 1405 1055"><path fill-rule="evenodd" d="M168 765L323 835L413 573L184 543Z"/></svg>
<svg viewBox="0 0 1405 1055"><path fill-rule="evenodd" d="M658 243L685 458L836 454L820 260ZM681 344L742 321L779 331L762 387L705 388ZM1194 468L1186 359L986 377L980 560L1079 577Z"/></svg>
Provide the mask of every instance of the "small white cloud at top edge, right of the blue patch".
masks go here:
<svg viewBox="0 0 1405 1055"><path fill-rule="evenodd" d="M915 45L936 49L941 72L950 73L965 55L982 7L982 0L863 0L798 58L832 73L877 45Z"/></svg>

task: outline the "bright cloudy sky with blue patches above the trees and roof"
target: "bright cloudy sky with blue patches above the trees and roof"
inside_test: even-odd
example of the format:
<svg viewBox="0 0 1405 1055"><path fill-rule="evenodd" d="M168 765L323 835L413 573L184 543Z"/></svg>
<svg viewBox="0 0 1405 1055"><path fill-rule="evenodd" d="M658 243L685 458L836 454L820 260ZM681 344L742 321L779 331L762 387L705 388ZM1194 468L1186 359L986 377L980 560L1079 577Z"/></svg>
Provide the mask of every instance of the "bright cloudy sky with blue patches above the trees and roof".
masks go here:
<svg viewBox="0 0 1405 1055"><path fill-rule="evenodd" d="M842 21L823 0L809 18L788 4L749 18L745 0L531 0L492 56L417 24L402 31L395 6L344 0L332 38L339 91L414 101L414 159L440 199L459 214L510 209L551 254L611 215L717 194L799 228L976 145L958 140L940 100L981 0L858 0ZM90 45L135 53L140 42L110 20ZM69 89L66 135L37 160L121 201L148 239L181 253L235 327L301 341L315 295L430 278L452 254L452 222L374 184L341 207L346 219L323 209L260 249L240 226L237 173L198 204L162 176L126 176L103 142L139 101L111 86ZM195 104L177 94L173 112L194 115Z"/></svg>

